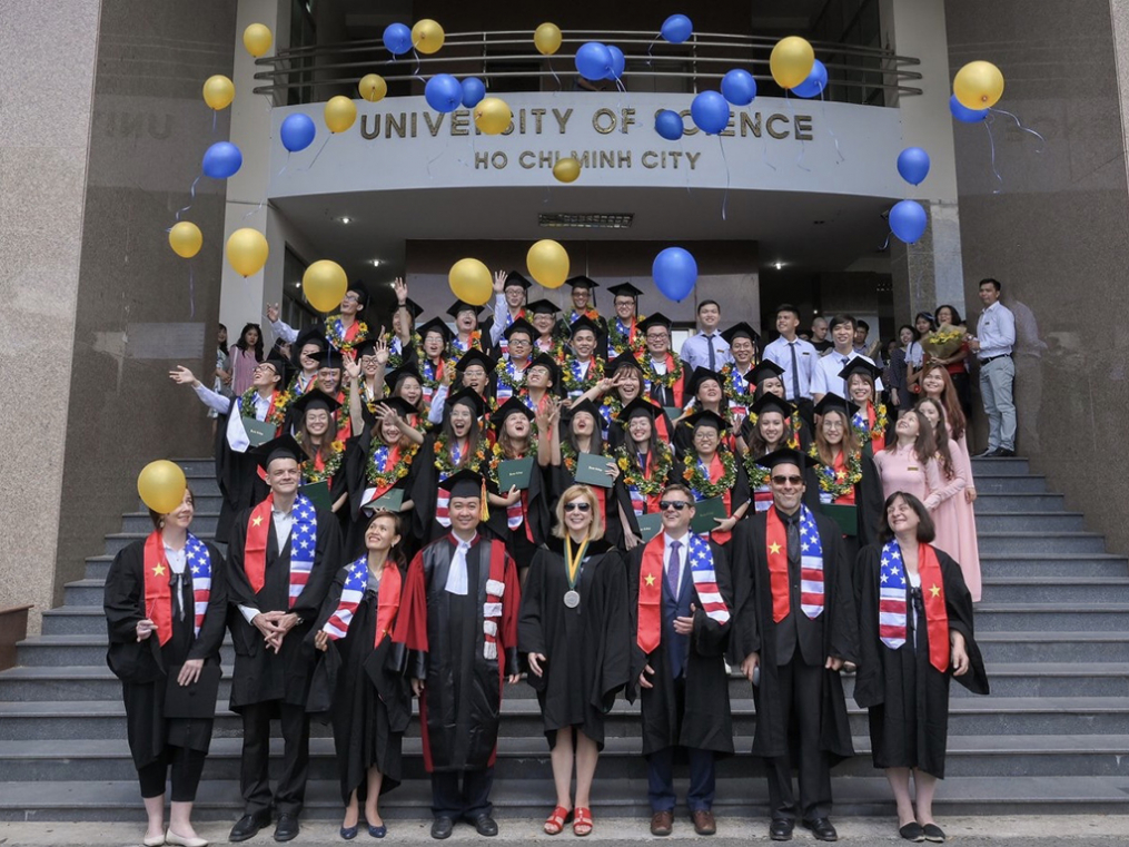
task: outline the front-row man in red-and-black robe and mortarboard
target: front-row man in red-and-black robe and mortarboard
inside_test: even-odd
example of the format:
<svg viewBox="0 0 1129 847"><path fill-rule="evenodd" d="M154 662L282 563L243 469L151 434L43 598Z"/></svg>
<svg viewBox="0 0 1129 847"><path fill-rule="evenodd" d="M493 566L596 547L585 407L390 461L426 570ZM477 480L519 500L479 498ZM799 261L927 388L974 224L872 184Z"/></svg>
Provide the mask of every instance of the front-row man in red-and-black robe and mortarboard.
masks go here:
<svg viewBox="0 0 1129 847"><path fill-rule="evenodd" d="M431 837L449 838L460 818L496 836L490 788L501 683L520 679L517 566L505 543L479 533L482 477L463 470L443 487L450 494L450 532L412 559L393 640L409 652L406 673L420 698Z"/></svg>

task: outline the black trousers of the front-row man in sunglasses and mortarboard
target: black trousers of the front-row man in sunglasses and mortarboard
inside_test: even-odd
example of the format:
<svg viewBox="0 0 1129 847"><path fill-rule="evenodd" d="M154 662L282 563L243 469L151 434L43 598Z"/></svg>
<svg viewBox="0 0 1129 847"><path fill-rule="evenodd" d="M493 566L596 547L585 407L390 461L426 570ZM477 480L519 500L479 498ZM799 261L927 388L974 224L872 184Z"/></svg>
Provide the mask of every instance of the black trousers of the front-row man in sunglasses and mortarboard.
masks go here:
<svg viewBox="0 0 1129 847"><path fill-rule="evenodd" d="M797 646L791 662L777 667L780 711L793 715L799 734L799 812L806 821L831 815L831 763L820 749L823 667L805 664ZM769 810L773 819L796 820L791 791L791 757L765 760Z"/></svg>

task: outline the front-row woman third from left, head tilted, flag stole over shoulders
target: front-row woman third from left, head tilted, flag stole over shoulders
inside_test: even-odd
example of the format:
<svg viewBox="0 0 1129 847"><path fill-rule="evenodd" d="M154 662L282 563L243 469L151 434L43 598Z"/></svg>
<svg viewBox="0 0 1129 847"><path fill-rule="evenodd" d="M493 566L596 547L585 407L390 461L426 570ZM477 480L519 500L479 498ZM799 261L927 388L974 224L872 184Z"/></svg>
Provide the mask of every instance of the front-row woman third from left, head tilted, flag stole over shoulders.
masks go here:
<svg viewBox="0 0 1129 847"><path fill-rule="evenodd" d="M341 837L347 841L357 837L361 802L368 833L387 833L378 801L400 785L401 742L412 716L411 688L392 643L405 567L399 515L373 515L365 544L368 551L338 573L314 629L314 646L325 654L325 688L332 692L329 710L345 804Z"/></svg>

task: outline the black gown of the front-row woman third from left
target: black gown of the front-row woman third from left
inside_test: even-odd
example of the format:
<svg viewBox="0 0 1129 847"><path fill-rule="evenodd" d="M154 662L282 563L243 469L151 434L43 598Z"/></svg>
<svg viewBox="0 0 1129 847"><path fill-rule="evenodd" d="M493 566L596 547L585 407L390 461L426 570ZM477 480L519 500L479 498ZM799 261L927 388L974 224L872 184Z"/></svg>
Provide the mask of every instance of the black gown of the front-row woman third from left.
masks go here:
<svg viewBox="0 0 1129 847"><path fill-rule="evenodd" d="M360 566L366 567L364 559ZM322 604L322 613L309 632L310 643L336 612L352 567L344 566L334 577ZM390 564L387 567L394 566ZM383 582L380 590L384 590ZM401 599L403 592L402 582ZM400 670L403 649L401 645L393 644L392 632L374 647L377 599L377 593L366 591L345 637L330 641L329 649L318 654L318 667L310 690L310 710L329 706L341 800L345 804L353 791L357 791L358 801L364 802L368 769L371 767L384 776L380 794L392 791L403 779L401 745L412 717L412 689ZM316 700L321 702L315 704Z"/></svg>

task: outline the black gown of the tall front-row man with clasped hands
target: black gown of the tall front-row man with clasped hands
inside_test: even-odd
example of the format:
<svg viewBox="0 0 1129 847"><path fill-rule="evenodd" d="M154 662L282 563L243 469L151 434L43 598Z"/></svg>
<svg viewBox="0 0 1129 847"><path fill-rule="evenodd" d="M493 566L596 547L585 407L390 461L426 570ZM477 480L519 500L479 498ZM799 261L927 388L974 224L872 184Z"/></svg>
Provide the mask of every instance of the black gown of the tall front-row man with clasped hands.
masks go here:
<svg viewBox="0 0 1129 847"><path fill-rule="evenodd" d="M228 547L227 568L228 613L231 640L235 644L235 672L231 678L231 709L239 711L244 706L256 702L282 700L295 706L305 706L309 693L309 679L314 657L303 640L309 634L333 576L341 567L341 531L333 513L317 509L317 547L314 567L301 594L290 601L290 543L294 530L286 544L279 549L274 534L274 522L270 517L266 533L266 569L263 587L256 593L251 587L244 569L247 544L247 521L251 510L242 512L231 527L231 543ZM238 605L254 606L261 612L290 611L301 618L282 639L282 648L274 653L263 641L262 634L243 617Z"/></svg>

